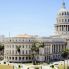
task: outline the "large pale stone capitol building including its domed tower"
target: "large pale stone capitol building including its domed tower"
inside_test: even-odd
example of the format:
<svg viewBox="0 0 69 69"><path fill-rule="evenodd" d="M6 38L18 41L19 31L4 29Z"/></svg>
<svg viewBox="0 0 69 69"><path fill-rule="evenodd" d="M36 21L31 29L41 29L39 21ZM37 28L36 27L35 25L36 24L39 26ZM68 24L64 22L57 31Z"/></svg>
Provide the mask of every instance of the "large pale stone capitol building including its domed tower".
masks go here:
<svg viewBox="0 0 69 69"><path fill-rule="evenodd" d="M37 61L61 60L61 51L66 48L69 49L69 10L66 9L64 2L57 13L54 27L56 34L50 37L28 34L5 37L4 60L9 62L31 62L33 41L44 42L44 47L40 47L38 56L35 56ZM17 46L20 47L20 54L17 52Z"/></svg>

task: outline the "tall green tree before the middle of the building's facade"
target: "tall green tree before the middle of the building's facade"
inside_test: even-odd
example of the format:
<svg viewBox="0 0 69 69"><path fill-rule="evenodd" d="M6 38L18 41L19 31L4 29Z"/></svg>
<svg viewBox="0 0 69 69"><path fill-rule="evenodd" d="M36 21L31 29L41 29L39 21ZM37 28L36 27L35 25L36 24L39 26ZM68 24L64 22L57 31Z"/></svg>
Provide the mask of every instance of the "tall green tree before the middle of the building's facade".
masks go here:
<svg viewBox="0 0 69 69"><path fill-rule="evenodd" d="M33 64L35 65L36 64L36 58L35 56L39 55L39 48L40 47L44 47L44 42L37 42L37 41L34 41L33 44L32 44L32 48L31 48L31 51L32 51L32 59L33 59Z"/></svg>

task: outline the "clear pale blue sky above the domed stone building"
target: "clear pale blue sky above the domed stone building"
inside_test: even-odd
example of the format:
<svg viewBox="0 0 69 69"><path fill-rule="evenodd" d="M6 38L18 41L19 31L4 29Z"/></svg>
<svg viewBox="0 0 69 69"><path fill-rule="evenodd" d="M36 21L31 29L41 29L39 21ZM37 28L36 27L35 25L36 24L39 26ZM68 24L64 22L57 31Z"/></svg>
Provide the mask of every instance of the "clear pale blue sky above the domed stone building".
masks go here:
<svg viewBox="0 0 69 69"><path fill-rule="evenodd" d="M62 0L0 0L0 35L53 35L61 5Z"/></svg>

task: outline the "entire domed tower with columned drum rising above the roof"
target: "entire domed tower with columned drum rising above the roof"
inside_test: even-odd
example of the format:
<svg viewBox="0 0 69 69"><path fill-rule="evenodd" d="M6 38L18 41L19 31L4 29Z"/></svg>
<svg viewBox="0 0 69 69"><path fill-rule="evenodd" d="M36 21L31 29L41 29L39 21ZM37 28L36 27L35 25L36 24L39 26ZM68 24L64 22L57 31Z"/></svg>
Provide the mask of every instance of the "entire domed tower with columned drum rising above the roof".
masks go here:
<svg viewBox="0 0 69 69"><path fill-rule="evenodd" d="M62 3L62 7L57 13L56 18L56 34L58 35L68 35L69 34L69 10L65 7L65 2Z"/></svg>

